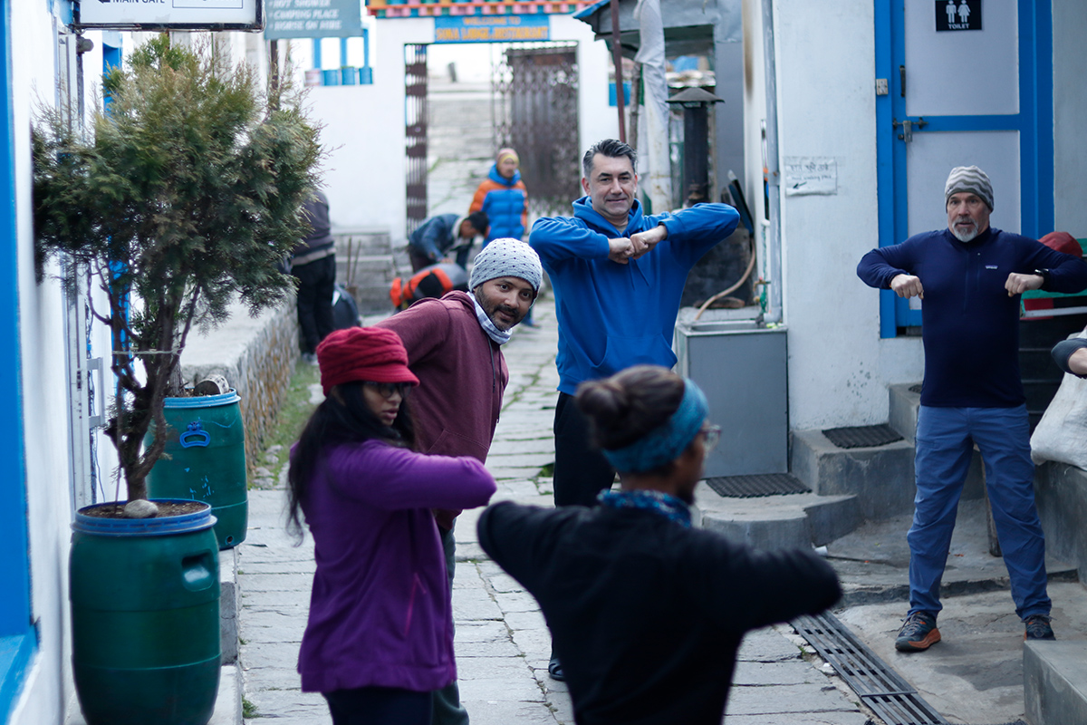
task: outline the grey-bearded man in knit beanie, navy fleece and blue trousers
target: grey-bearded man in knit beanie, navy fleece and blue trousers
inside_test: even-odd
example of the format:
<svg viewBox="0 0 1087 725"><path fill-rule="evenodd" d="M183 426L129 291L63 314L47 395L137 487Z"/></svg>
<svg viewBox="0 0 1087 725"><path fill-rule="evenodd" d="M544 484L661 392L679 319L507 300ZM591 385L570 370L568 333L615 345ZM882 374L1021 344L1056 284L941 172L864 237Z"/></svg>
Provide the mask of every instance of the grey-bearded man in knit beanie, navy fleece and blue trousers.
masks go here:
<svg viewBox="0 0 1087 725"><path fill-rule="evenodd" d="M940 640L940 579L974 443L1024 639L1053 639L1046 540L1034 503L1026 397L1019 370L1020 295L1078 292L1087 263L989 226L992 185L977 166L951 170L948 228L873 249L857 265L865 284L920 297L925 379L917 412L910 610L899 651Z"/></svg>

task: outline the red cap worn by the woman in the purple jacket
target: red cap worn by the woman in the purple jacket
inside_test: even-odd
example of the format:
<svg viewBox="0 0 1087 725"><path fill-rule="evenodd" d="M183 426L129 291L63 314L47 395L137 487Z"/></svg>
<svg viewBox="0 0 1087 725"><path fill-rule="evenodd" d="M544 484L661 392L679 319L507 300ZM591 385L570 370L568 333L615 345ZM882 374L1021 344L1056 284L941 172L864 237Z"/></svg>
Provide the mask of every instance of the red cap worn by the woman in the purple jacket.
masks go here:
<svg viewBox="0 0 1087 725"><path fill-rule="evenodd" d="M418 385L418 378L408 370L408 351L400 336L384 327L333 332L317 346L317 365L326 396L334 385L355 380Z"/></svg>

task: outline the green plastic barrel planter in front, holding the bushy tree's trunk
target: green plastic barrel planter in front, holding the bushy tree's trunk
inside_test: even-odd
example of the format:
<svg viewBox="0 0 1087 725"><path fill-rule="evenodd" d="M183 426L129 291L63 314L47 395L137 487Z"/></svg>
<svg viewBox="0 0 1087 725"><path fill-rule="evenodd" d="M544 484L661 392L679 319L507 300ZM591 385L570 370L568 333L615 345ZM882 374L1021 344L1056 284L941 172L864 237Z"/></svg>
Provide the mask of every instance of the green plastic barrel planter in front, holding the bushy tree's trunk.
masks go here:
<svg viewBox="0 0 1087 725"><path fill-rule="evenodd" d="M160 505L170 501L157 501ZM87 725L205 725L220 675L215 517L72 524L72 665Z"/></svg>

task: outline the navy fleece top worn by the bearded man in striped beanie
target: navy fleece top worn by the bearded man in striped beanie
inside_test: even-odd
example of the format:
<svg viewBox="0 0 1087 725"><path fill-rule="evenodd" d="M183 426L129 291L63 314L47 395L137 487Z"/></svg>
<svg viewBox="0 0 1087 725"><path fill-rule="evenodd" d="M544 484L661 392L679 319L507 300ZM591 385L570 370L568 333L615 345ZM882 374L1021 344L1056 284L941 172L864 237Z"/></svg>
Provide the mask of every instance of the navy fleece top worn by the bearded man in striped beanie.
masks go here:
<svg viewBox="0 0 1087 725"><path fill-rule="evenodd" d="M1019 367L1020 296L1009 297L1004 283L1013 272L1042 268L1049 270L1047 291L1087 288L1083 260L992 228L970 242L941 229L873 249L857 265L857 276L880 289L890 289L900 274L921 279L922 405L1013 408L1026 400Z"/></svg>

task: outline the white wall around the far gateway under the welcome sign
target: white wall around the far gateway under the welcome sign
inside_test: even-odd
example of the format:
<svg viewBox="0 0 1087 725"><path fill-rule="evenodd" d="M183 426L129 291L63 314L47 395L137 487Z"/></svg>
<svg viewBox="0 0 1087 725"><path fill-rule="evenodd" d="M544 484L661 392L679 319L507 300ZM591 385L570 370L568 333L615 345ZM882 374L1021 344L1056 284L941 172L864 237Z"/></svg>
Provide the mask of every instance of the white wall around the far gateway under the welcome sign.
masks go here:
<svg viewBox="0 0 1087 725"><path fill-rule="evenodd" d="M378 21L370 38L373 85L313 87L307 104L311 117L324 124L324 180L333 226L384 227L397 246L405 243L407 215L403 47L433 42L434 20ZM586 24L561 15L551 16L551 39L578 41L582 147L615 136L617 121L608 107L607 47L592 39ZM309 59L309 41L295 41L293 51L296 59ZM479 112L480 120L489 120L489 108Z"/></svg>

